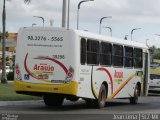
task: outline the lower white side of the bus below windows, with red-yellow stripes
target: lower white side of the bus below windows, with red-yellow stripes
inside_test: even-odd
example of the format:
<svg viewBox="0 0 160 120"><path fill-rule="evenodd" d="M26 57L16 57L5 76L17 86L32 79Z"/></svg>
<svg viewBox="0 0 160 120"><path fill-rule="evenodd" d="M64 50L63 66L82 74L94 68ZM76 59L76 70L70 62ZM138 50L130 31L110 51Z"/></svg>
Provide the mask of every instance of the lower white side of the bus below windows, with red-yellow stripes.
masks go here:
<svg viewBox="0 0 160 120"><path fill-rule="evenodd" d="M141 69L124 69L113 67L81 66L80 85L78 95L86 98L97 98L102 83L108 84L108 99L125 98L133 96L135 85L142 81L142 76L137 76ZM92 74L92 76L91 76ZM83 89L82 89L83 88ZM87 92L86 92L87 91Z"/></svg>

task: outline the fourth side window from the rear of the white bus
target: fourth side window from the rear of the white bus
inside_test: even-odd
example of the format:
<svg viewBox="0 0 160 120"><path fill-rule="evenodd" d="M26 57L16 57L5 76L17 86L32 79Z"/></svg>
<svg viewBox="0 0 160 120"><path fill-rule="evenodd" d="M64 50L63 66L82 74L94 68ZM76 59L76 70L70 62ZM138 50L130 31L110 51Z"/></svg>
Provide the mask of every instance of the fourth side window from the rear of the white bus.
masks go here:
<svg viewBox="0 0 160 120"><path fill-rule="evenodd" d="M123 46L113 45L113 66L123 66Z"/></svg>

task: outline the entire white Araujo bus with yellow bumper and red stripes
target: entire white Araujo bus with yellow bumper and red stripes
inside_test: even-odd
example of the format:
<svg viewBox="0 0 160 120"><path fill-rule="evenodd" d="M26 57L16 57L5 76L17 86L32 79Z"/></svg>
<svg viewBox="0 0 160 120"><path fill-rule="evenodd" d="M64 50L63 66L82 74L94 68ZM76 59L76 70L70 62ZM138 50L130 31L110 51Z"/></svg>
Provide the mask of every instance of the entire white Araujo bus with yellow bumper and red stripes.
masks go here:
<svg viewBox="0 0 160 120"><path fill-rule="evenodd" d="M147 91L148 64L148 47L138 42L63 28L21 28L15 91L43 96L48 106L60 106L65 98L98 108L113 98L136 104Z"/></svg>

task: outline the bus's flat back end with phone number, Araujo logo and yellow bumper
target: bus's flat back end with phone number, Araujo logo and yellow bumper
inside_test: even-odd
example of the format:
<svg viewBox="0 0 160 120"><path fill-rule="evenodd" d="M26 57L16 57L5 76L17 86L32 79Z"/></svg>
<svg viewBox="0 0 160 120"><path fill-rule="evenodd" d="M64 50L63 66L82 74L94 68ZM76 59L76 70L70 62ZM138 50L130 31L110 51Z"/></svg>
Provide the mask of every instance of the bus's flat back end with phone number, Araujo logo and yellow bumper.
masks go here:
<svg viewBox="0 0 160 120"><path fill-rule="evenodd" d="M72 42L75 35L70 32L51 28L20 30L15 63L16 91L77 94L66 90L74 88L77 91L78 88L74 63L76 51L72 50L75 49ZM73 83L68 83L67 77L71 77Z"/></svg>

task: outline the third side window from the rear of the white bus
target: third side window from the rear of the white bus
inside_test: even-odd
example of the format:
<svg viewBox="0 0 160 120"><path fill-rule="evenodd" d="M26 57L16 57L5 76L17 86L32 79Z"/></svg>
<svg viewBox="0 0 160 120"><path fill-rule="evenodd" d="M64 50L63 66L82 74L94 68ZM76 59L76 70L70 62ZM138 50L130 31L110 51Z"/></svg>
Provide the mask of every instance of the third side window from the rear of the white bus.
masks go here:
<svg viewBox="0 0 160 120"><path fill-rule="evenodd" d="M100 64L111 65L112 64L112 45L110 43L101 42L100 45Z"/></svg>

